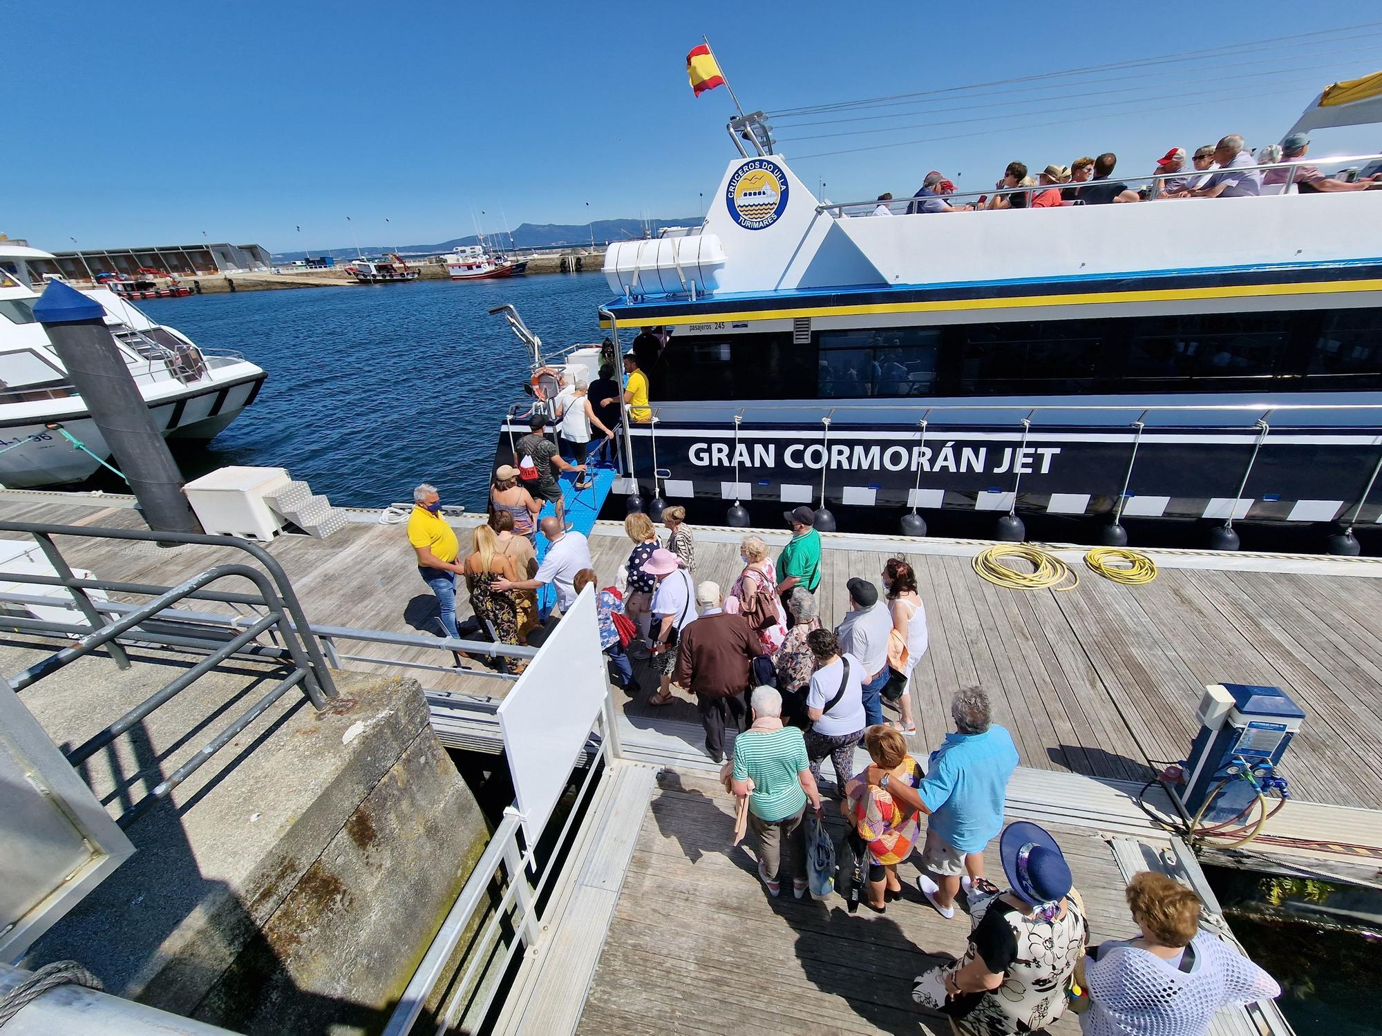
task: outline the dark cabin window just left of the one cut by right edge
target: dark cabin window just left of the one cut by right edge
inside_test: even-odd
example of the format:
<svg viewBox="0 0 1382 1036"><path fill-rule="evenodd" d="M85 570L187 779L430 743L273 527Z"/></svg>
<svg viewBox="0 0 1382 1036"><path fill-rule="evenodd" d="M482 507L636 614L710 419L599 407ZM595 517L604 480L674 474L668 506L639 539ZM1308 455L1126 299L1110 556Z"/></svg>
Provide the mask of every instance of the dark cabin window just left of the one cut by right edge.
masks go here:
<svg viewBox="0 0 1382 1036"><path fill-rule="evenodd" d="M1144 380L1269 378L1291 338L1291 314L1144 316L1124 376Z"/></svg>

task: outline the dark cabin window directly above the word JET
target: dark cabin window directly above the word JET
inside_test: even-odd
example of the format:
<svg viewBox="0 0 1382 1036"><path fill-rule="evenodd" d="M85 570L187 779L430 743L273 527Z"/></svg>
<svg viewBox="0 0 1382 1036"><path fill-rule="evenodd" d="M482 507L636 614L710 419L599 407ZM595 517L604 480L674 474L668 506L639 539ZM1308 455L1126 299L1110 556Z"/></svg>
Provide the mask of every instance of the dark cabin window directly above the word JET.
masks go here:
<svg viewBox="0 0 1382 1036"><path fill-rule="evenodd" d="M1103 320L1017 320L965 327L960 390L1002 395L1090 388L1106 341Z"/></svg>

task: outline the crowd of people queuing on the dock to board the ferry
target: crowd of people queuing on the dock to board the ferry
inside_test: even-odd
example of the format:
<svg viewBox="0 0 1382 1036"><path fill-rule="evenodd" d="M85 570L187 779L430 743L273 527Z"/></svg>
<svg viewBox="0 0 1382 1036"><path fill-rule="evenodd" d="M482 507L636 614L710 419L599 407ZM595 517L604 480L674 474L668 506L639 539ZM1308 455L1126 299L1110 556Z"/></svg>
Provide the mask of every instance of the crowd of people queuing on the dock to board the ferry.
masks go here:
<svg viewBox="0 0 1382 1036"><path fill-rule="evenodd" d="M456 576L475 616L504 644L532 634L536 608L528 601L539 587L554 584L565 611L590 586L612 678L637 695L621 624L643 622L634 629L651 641L661 681L651 703L672 700L673 680L694 695L708 754L716 762L730 756L721 779L742 803L757 879L774 898L788 881L796 899L810 887L807 816L824 816L820 775L829 758L847 837L860 847L864 906L886 913L904 895L902 869L915 865L916 890L938 917L954 920L962 902L967 909L965 952L918 975L912 989L956 1033L1036 1032L1074 1006L1086 1036L1201 1036L1218 1010L1280 995L1262 968L1201 930L1194 892L1159 873L1128 884L1137 934L1090 946L1085 902L1059 840L1035 823L1003 823L1019 753L984 688L954 692L954 729L925 765L911 754L904 735L916 728L907 691L927 633L904 559L884 564L882 594L871 580L850 579L850 611L832 631L821 626L815 599L821 537L810 508L784 515L792 539L777 559L761 537L742 540L744 568L728 597L714 582L694 583L684 512L666 521L666 547L652 521L636 514L625 525L633 551L621 593L600 588L586 537L556 517L538 526L547 541L539 565L515 524L529 506L504 482L511 470L500 468L496 506L471 530L464 557L435 486L415 490L408 540L444 633L457 637ZM900 721L883 721L889 706ZM855 767L860 746L868 758ZM985 873L995 840L999 881Z"/></svg>

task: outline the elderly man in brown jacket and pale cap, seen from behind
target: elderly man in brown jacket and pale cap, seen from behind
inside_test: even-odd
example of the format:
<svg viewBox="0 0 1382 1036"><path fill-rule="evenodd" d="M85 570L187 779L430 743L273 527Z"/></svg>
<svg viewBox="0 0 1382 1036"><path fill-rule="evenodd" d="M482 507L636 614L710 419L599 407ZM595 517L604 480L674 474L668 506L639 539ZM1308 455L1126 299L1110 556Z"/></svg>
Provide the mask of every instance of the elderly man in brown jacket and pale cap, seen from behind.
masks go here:
<svg viewBox="0 0 1382 1036"><path fill-rule="evenodd" d="M752 682L753 659L763 653L759 635L742 615L720 611L720 586L705 582L695 588L701 616L681 631L677 669L680 687L695 695L705 750L716 762L724 761L724 728L744 732L749 706L744 692Z"/></svg>

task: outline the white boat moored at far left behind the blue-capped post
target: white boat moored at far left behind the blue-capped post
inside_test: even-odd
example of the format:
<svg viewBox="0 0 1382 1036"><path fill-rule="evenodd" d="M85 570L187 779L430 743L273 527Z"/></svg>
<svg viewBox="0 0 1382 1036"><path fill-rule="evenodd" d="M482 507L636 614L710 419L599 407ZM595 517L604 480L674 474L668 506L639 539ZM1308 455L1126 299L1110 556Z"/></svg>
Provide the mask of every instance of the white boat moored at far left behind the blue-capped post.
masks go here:
<svg viewBox="0 0 1382 1036"><path fill-rule="evenodd" d="M0 483L10 489L80 482L111 457L35 319L39 296L29 287L29 262L44 258L53 256L0 243ZM83 294L105 309L105 323L164 438L213 439L264 385L265 372L240 354L203 349L109 287Z"/></svg>

